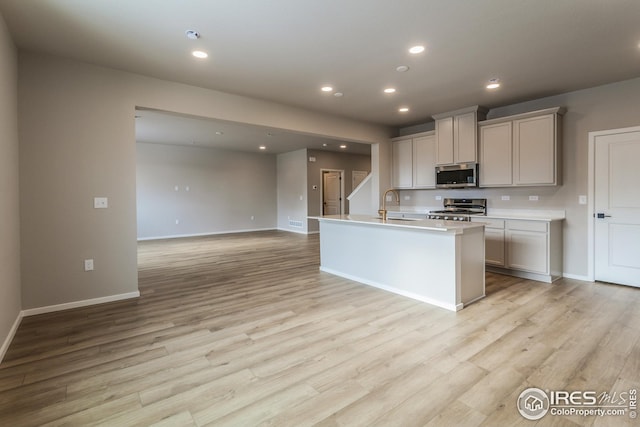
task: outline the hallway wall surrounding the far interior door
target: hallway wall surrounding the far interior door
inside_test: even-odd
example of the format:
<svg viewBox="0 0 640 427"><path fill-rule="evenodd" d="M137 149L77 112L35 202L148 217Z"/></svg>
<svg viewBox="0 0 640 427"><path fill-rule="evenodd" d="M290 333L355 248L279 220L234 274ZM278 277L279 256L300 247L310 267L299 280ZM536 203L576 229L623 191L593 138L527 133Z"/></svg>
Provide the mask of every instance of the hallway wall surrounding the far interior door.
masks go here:
<svg viewBox="0 0 640 427"><path fill-rule="evenodd" d="M310 162L309 157L315 157L315 162ZM349 153L337 153L332 151L319 151L308 150L307 159L307 212L309 216L316 216L321 214L321 200L320 200L320 188L321 188L321 169L339 169L344 170L344 194L343 201L345 203L345 212L349 212L349 201L347 196L351 194L353 188L351 188L351 172L354 170L361 170L371 172L371 156L362 154L349 154ZM317 186L317 190L313 189L313 186ZM309 220L308 231L315 232L319 230L319 224L317 220Z"/></svg>

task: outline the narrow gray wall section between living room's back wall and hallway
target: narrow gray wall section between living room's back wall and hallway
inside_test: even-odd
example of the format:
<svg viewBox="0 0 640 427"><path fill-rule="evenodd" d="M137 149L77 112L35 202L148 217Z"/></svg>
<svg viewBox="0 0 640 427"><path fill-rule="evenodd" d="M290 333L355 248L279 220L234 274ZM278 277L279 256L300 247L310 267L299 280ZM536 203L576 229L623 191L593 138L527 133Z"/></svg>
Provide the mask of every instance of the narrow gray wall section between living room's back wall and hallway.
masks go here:
<svg viewBox="0 0 640 427"><path fill-rule="evenodd" d="M278 229L307 232L307 150L279 154Z"/></svg>

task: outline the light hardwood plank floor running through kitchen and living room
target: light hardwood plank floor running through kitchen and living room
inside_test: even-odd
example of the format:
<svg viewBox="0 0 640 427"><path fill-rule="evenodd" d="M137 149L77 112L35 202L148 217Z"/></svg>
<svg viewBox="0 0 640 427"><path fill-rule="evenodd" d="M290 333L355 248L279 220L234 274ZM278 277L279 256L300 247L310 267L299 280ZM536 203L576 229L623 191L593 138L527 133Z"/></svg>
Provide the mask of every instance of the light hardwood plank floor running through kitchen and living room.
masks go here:
<svg viewBox="0 0 640 427"><path fill-rule="evenodd" d="M487 274L453 313L320 272L318 236L139 244L141 297L23 319L0 426L578 426L521 391L640 389L640 289Z"/></svg>

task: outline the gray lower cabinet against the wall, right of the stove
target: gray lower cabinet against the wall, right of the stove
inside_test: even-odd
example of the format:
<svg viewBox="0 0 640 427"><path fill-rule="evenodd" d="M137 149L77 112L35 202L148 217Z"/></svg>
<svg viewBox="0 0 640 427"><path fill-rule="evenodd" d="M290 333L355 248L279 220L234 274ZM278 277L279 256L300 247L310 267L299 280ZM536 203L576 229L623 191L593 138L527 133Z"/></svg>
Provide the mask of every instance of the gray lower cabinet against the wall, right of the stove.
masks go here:
<svg viewBox="0 0 640 427"><path fill-rule="evenodd" d="M488 271L551 283L562 277L562 220L472 218L485 223Z"/></svg>

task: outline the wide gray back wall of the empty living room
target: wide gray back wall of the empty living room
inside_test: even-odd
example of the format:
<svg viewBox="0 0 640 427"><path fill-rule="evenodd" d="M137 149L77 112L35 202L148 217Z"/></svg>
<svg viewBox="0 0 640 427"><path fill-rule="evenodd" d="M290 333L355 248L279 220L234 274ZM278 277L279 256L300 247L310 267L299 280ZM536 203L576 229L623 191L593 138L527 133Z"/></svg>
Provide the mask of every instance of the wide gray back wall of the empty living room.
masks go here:
<svg viewBox="0 0 640 427"><path fill-rule="evenodd" d="M138 239L276 228L275 155L136 147Z"/></svg>

